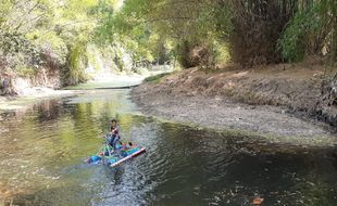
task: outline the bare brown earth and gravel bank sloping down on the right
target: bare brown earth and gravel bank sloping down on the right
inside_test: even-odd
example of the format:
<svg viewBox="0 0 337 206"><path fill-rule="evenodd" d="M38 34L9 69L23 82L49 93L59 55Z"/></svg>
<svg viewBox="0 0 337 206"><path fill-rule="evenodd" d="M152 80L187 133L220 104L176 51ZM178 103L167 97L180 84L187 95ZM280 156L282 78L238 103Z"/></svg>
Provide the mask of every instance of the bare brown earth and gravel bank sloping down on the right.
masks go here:
<svg viewBox="0 0 337 206"><path fill-rule="evenodd" d="M311 118L323 73L290 65L216 73L190 68L142 83L132 96L149 115L253 132L277 142L334 145L334 128Z"/></svg>

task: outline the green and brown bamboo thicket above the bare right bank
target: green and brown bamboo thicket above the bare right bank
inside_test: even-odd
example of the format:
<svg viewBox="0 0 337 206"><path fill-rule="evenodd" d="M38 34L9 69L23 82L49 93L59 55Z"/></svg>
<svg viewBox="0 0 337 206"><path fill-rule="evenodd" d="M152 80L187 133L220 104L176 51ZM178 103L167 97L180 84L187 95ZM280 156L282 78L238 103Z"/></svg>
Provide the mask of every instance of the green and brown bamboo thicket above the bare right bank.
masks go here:
<svg viewBox="0 0 337 206"><path fill-rule="evenodd" d="M137 56L177 59L185 67L214 66L229 57L242 65L297 62L305 55L334 63L336 4L334 0L125 0L102 27L108 36L129 42Z"/></svg>

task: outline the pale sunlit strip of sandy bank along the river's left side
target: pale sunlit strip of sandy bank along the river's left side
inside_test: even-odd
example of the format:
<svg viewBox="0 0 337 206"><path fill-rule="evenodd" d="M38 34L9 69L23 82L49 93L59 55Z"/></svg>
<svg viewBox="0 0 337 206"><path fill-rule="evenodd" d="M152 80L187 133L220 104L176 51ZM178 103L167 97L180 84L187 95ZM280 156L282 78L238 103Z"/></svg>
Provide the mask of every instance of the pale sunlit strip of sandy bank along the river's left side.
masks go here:
<svg viewBox="0 0 337 206"><path fill-rule="evenodd" d="M43 99L75 95L83 93L85 90L132 88L141 83L141 81L149 76L170 72L172 72L172 68L164 65L157 66L152 68L152 70L143 69L142 74L98 73L99 78L92 77L92 80L88 80L85 83L78 83L62 89L60 81L58 81L59 75L53 76L43 73L43 75L34 79L14 78L14 76L12 76L11 87L8 88L8 93L4 92L5 89L1 89L0 87L0 113L1 111L26 110L29 105ZM9 76L0 73L0 81L3 77Z"/></svg>

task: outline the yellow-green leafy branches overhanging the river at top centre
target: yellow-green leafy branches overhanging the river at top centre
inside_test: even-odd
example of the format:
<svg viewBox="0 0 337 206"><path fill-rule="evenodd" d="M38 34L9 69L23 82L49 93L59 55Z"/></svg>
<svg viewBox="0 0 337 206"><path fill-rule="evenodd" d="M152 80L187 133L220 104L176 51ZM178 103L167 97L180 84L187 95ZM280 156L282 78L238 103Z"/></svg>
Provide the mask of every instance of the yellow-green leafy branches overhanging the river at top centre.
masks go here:
<svg viewBox="0 0 337 206"><path fill-rule="evenodd" d="M97 34L123 42L136 61L162 63L178 57L177 44L184 41L222 41L230 33L230 16L227 3L217 0L125 0L121 10L100 22Z"/></svg>

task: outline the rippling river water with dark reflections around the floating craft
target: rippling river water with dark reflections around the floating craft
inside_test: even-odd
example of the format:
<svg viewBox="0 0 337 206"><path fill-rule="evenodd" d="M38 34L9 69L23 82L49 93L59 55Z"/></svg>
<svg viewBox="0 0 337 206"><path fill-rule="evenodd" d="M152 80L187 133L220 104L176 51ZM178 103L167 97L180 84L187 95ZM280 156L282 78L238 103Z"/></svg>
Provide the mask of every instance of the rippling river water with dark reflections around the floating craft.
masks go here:
<svg viewBox="0 0 337 206"><path fill-rule="evenodd" d="M13 192L14 205L245 206L254 197L262 205L337 205L337 149L271 145L162 121L139 114L129 90L1 116L0 186ZM122 140L147 153L117 168L85 164L112 117Z"/></svg>

